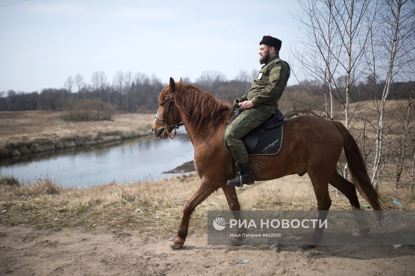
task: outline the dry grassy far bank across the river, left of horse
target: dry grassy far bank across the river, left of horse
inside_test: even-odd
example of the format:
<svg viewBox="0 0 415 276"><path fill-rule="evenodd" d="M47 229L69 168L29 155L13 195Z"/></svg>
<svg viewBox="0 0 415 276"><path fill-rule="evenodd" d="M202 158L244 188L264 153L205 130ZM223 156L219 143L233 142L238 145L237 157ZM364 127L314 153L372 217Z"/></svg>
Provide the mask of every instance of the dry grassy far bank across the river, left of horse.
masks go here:
<svg viewBox="0 0 415 276"><path fill-rule="evenodd" d="M115 114L111 121L69 122L61 111L0 112L0 158L98 145L151 134L154 114Z"/></svg>

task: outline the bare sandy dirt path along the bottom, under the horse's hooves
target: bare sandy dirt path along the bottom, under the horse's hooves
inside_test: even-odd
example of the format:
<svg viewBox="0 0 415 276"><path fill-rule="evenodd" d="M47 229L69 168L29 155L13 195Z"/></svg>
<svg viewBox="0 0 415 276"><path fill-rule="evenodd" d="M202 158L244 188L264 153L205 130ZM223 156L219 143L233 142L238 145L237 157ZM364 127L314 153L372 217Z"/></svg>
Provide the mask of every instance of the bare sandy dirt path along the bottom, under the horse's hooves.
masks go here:
<svg viewBox="0 0 415 276"><path fill-rule="evenodd" d="M196 234L197 237L191 235ZM135 231L81 228L36 230L0 226L0 274L10 275L413 275L415 247L207 245L190 232L173 251L166 238ZM248 259L248 264L234 264ZM304 263L305 264L304 264Z"/></svg>

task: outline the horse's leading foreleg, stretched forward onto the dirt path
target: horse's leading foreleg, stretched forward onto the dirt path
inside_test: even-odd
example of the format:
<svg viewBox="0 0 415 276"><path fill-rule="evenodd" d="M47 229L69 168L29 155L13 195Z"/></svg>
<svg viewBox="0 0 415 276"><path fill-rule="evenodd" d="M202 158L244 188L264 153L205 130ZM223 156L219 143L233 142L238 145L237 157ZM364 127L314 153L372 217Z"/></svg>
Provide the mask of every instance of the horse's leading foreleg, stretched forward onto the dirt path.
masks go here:
<svg viewBox="0 0 415 276"><path fill-rule="evenodd" d="M207 181L202 180L198 189L183 208L183 218L177 231L177 235L173 240L173 249L178 249L184 244L187 237L190 215L192 215L195 208L216 189L217 188L209 186Z"/></svg>

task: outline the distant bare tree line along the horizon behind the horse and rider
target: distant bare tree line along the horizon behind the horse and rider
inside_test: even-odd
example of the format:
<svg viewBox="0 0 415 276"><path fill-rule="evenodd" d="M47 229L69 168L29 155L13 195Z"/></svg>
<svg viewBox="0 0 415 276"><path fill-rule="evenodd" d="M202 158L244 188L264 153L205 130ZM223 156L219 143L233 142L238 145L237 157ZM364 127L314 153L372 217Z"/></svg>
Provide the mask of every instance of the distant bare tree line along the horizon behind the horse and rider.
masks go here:
<svg viewBox="0 0 415 276"><path fill-rule="evenodd" d="M195 82L189 78L183 78L183 83L197 85L201 89L214 94L219 99L232 103L234 99L245 94L257 71L248 73L241 70L237 77L228 80L226 75L217 71L204 71ZM62 110L69 99L101 99L112 104L116 109L126 112L147 112L158 109L157 97L160 91L167 85L158 77L149 77L144 73L132 74L130 71L117 71L112 83L102 71L96 71L89 83L85 83L83 75L69 76L64 82L63 88L45 88L40 92L22 92L8 90L0 92L0 111L24 111L24 110ZM408 97L411 82L392 82L391 97ZM373 89L376 86L376 89ZM382 83L374 83L371 80L356 83L350 87L350 99L353 102L380 98ZM341 98L346 87L344 80L337 83L339 90L334 92L334 97ZM295 95L299 91L312 91L313 94L323 94L325 86L316 80L302 80L297 85L286 87L286 94ZM290 96L294 97L294 96Z"/></svg>

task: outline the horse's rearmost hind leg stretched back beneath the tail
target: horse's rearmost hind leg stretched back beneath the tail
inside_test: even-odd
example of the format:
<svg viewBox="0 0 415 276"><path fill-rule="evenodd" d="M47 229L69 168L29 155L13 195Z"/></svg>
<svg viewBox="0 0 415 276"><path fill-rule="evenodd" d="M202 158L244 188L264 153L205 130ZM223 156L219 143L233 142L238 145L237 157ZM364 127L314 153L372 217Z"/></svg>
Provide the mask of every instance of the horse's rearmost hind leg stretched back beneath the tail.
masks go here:
<svg viewBox="0 0 415 276"><path fill-rule="evenodd" d="M365 218L363 212L360 210L360 203L359 199L357 198L356 187L353 185L353 183L342 177L337 171L334 171L332 179L330 179L329 183L334 188L341 191L342 194L344 194L344 196L349 199L349 202L352 205L354 219L356 220L360 235L364 236L369 233L370 224L368 219Z"/></svg>

